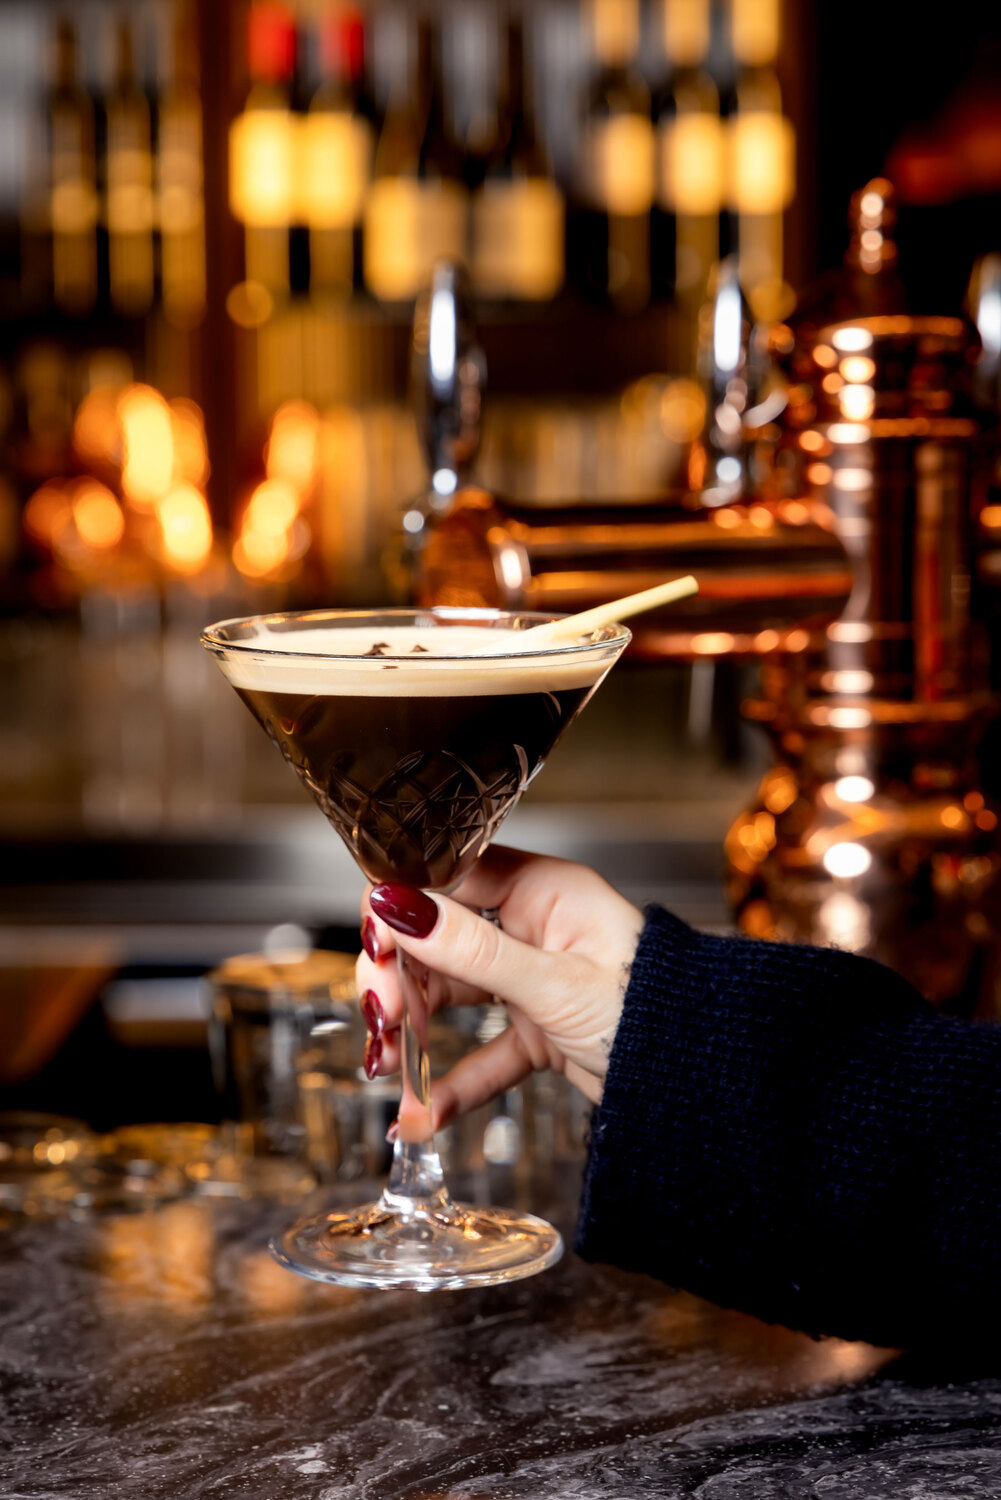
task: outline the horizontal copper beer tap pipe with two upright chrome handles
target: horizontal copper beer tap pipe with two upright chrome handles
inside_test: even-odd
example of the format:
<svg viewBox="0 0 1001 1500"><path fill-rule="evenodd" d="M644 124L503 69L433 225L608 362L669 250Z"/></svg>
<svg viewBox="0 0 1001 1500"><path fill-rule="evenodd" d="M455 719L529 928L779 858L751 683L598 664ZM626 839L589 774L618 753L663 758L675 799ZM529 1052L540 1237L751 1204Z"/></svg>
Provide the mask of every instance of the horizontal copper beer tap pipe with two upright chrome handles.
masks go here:
<svg viewBox="0 0 1001 1500"><path fill-rule="evenodd" d="M839 612L849 576L822 518L800 502L726 502L741 490L728 478L726 459L741 453L731 429L735 422L740 434L753 386L746 304L731 267L717 296L719 351L707 356L716 360L719 438L711 426L707 435L714 504L686 484L663 502L623 496L596 506L567 495L558 506L539 506L492 495L473 477L485 363L461 272L449 262L435 267L417 303L413 342L417 429L431 483L404 516L419 604L563 614L638 592L672 573L698 573L696 598L633 627L635 652L672 658L756 656L789 633L806 639L804 624ZM743 474L743 459L737 462ZM701 459L689 466L699 464L704 476Z"/></svg>

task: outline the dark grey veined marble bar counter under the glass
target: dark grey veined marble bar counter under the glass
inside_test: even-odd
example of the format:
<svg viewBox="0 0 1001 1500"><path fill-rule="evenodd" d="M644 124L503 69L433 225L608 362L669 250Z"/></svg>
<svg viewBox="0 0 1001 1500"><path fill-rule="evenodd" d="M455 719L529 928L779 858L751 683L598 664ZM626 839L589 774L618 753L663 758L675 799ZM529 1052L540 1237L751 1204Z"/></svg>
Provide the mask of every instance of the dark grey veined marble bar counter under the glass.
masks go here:
<svg viewBox="0 0 1001 1500"><path fill-rule="evenodd" d="M483 1292L318 1286L266 1251L288 1216L186 1200L8 1224L0 1496L1001 1494L990 1372L813 1342L572 1254Z"/></svg>

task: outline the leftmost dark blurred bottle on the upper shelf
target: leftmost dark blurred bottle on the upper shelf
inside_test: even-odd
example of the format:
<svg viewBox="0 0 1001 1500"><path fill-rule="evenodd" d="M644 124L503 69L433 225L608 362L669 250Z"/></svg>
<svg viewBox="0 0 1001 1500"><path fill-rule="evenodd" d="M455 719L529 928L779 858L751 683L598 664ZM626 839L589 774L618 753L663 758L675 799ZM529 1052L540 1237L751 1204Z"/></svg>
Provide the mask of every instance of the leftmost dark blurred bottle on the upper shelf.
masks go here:
<svg viewBox="0 0 1001 1500"><path fill-rule="evenodd" d="M65 312L98 300L98 166L95 111L77 80L77 33L60 21L48 94L53 297Z"/></svg>

